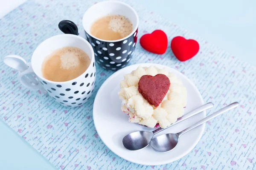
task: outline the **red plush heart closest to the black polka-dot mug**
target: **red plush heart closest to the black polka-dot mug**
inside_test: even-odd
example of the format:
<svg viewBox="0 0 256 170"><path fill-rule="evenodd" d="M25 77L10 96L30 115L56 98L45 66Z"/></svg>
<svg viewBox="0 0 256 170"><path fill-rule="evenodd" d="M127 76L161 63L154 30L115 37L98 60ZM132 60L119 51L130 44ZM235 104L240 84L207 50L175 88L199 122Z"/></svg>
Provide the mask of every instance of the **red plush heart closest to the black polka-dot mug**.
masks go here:
<svg viewBox="0 0 256 170"><path fill-rule="evenodd" d="M151 53L164 54L168 46L166 33L155 30L151 34L145 34L140 38L140 45Z"/></svg>

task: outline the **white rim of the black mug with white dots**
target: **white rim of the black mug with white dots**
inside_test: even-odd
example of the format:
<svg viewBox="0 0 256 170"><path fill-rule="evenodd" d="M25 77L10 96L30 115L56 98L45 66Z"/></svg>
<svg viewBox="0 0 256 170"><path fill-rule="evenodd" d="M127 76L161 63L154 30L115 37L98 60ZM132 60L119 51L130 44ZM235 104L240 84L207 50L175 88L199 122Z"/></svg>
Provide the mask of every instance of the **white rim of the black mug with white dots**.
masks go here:
<svg viewBox="0 0 256 170"><path fill-rule="evenodd" d="M131 11L133 11L135 16L136 16L136 26L134 27L133 31L128 36L126 36L126 37L124 37L122 39L118 39L118 40L103 40L103 39L97 38L97 37L93 36L92 34L90 34L90 31L86 31L86 34L89 34L91 37L95 38L96 40L103 41L103 42L119 42L119 41L123 41L123 40L127 39L128 37L131 37L136 32L137 28L139 27L139 16L138 16L137 12L134 10L134 8L129 6L127 3L123 3L123 2L120 2L120 1L117 1L117 0L105 0L105 1L102 1L102 2L94 4L93 6L90 6L90 8L95 8L95 6L99 6L99 5L102 5L102 4L105 4L105 3L119 3L119 4L122 4L122 5L130 8ZM86 12L90 8L88 8L85 11L84 16L82 18L82 25L83 25L84 31L85 31L85 24L86 24L84 22L84 20L85 20L84 18L85 18Z"/></svg>

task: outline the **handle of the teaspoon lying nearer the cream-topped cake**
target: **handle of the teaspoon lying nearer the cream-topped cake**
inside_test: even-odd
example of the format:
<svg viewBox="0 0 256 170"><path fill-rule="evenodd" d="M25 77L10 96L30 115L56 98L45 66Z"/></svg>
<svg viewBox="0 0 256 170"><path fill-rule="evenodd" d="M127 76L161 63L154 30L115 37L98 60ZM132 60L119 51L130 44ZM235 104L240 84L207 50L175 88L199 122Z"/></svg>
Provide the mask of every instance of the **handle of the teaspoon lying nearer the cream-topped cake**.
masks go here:
<svg viewBox="0 0 256 170"><path fill-rule="evenodd" d="M169 128L169 127L172 127L173 125L176 125L177 123L182 122L183 120L186 120L186 119L188 119L189 117L194 116L194 115L196 115L196 114L198 114L198 113L200 113L200 112L202 112L202 111L205 111L205 110L207 110L207 109L209 109L209 108L212 108L212 107L213 107L212 102L209 102L209 103L207 103L207 104L205 104L205 105L200 106L199 108L194 109L193 111L190 111L189 113L186 113L184 116L182 116L180 119L178 119L178 120L177 120L175 123L173 123L172 125L167 126L166 128L161 128L161 127L159 127L158 129L156 129L156 130L154 130L154 131L152 131L152 132L153 132L154 134L159 133L159 132L161 132L162 130L165 130L165 129Z"/></svg>

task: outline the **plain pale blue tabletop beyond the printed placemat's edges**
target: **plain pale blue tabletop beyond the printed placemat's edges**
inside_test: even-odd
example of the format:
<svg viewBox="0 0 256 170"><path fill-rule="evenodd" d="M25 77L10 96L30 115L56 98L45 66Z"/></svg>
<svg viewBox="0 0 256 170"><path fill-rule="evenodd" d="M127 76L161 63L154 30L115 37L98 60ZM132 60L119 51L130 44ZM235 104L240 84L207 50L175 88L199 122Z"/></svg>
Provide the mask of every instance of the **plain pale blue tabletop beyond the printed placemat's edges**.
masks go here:
<svg viewBox="0 0 256 170"><path fill-rule="evenodd" d="M255 0L140 0L178 26L256 65ZM168 33L167 33L168 34ZM0 121L1 170L55 170L43 156Z"/></svg>

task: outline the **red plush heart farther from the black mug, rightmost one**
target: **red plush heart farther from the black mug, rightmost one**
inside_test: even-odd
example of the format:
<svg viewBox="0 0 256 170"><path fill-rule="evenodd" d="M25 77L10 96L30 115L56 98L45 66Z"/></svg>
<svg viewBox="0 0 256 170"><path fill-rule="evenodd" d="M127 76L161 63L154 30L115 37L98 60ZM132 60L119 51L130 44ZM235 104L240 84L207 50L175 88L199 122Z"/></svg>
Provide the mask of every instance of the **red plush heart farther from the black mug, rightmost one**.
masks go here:
<svg viewBox="0 0 256 170"><path fill-rule="evenodd" d="M171 42L173 54L180 61L186 61L195 56L199 51L199 44L196 40L186 40L184 37L174 37Z"/></svg>

